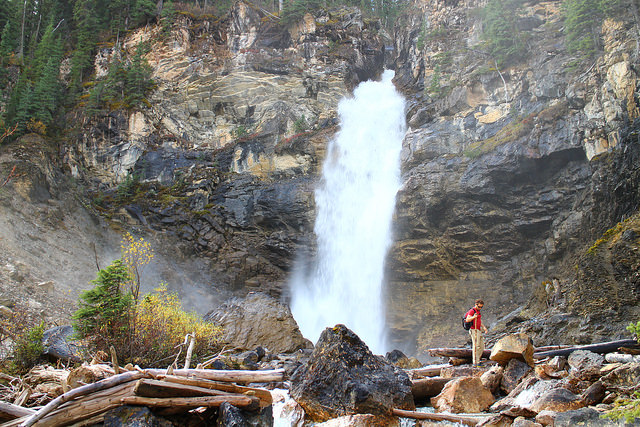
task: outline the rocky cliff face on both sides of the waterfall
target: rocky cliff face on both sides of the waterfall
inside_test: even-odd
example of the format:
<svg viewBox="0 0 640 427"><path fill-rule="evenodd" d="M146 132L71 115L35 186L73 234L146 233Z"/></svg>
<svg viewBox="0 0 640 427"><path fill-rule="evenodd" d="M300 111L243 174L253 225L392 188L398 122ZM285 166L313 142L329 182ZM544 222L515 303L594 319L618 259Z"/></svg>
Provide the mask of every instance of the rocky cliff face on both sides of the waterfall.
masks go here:
<svg viewBox="0 0 640 427"><path fill-rule="evenodd" d="M537 345L619 335L640 314L640 226L615 228L640 201L637 28L606 21L604 54L575 70L560 1L531 1L520 22L530 54L497 71L482 53L480 19L468 13L481 2L417 6L400 22L392 55L390 37L356 9L307 15L287 28L242 2L225 19L182 15L168 33L150 26L122 52L104 48L98 76L114 55L150 43L157 88L141 111L71 114L61 159L22 175L29 197L39 188L53 196L40 200L42 215L57 212L67 192L52 192L60 188L54 175L73 177L91 202L74 209L103 230L79 231L99 242L89 253L70 251L82 263L55 262L57 271L43 270L37 257L28 263L54 286L86 288L94 258L104 266L116 257L118 232L127 229L153 241L151 280L182 290L189 306L208 311L255 289L286 299L296 254L314 250L313 189L338 101L386 63L407 98L410 127L387 264L394 346L420 355L464 343L459 317L477 297L496 331L528 328ZM4 152L8 173L15 158ZM135 191L123 197L132 177ZM3 191L18 192L18 184ZM7 218L27 215L28 206L16 209L18 199L5 196ZM7 221L7 236L16 224ZM62 222L42 224L40 250L49 252ZM587 254L608 229L605 249ZM14 248L33 252L19 241L4 245L15 255L7 277L20 258ZM607 292L596 298L601 283ZM603 307L615 309L582 320Z"/></svg>

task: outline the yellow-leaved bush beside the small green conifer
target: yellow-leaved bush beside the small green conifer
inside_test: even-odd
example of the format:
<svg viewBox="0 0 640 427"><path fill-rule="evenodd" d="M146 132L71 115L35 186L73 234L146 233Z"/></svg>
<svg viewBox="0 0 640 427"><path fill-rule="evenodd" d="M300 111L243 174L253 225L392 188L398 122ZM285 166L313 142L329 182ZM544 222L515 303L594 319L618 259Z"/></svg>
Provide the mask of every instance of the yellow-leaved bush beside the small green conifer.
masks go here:
<svg viewBox="0 0 640 427"><path fill-rule="evenodd" d="M140 366L169 365L180 352L185 336L195 336L192 363L204 361L220 350L222 329L196 313L182 309L178 295L161 286L140 299L135 308L133 362ZM178 365L184 363L182 348Z"/></svg>

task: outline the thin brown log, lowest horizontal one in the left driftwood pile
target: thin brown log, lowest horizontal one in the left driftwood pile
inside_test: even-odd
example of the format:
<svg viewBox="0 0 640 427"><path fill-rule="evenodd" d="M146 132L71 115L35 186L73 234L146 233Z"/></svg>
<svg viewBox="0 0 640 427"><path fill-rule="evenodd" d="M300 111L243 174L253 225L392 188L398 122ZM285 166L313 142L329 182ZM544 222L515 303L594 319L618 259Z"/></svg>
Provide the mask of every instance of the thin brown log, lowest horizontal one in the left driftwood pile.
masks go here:
<svg viewBox="0 0 640 427"><path fill-rule="evenodd" d="M257 397L240 394L227 396L200 396L200 397L169 397L166 399L155 397L128 396L121 399L123 405L140 405L152 408L184 408L185 411L199 407L218 407L225 402L235 407L256 410L260 407Z"/></svg>

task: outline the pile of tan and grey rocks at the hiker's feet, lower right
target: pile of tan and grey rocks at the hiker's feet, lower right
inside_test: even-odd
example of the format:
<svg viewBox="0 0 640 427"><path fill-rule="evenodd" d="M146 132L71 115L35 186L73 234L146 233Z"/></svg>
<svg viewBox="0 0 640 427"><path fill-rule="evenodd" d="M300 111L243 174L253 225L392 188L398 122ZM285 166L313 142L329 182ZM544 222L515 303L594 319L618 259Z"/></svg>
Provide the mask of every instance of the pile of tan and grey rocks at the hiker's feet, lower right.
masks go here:
<svg viewBox="0 0 640 427"><path fill-rule="evenodd" d="M486 412L490 416L478 424L483 426L617 425L600 415L640 384L640 363L633 356L576 350L534 363L532 355L526 335L507 336L481 368L442 368L440 376L450 380L431 404L437 412ZM615 361L620 358L626 362Z"/></svg>

